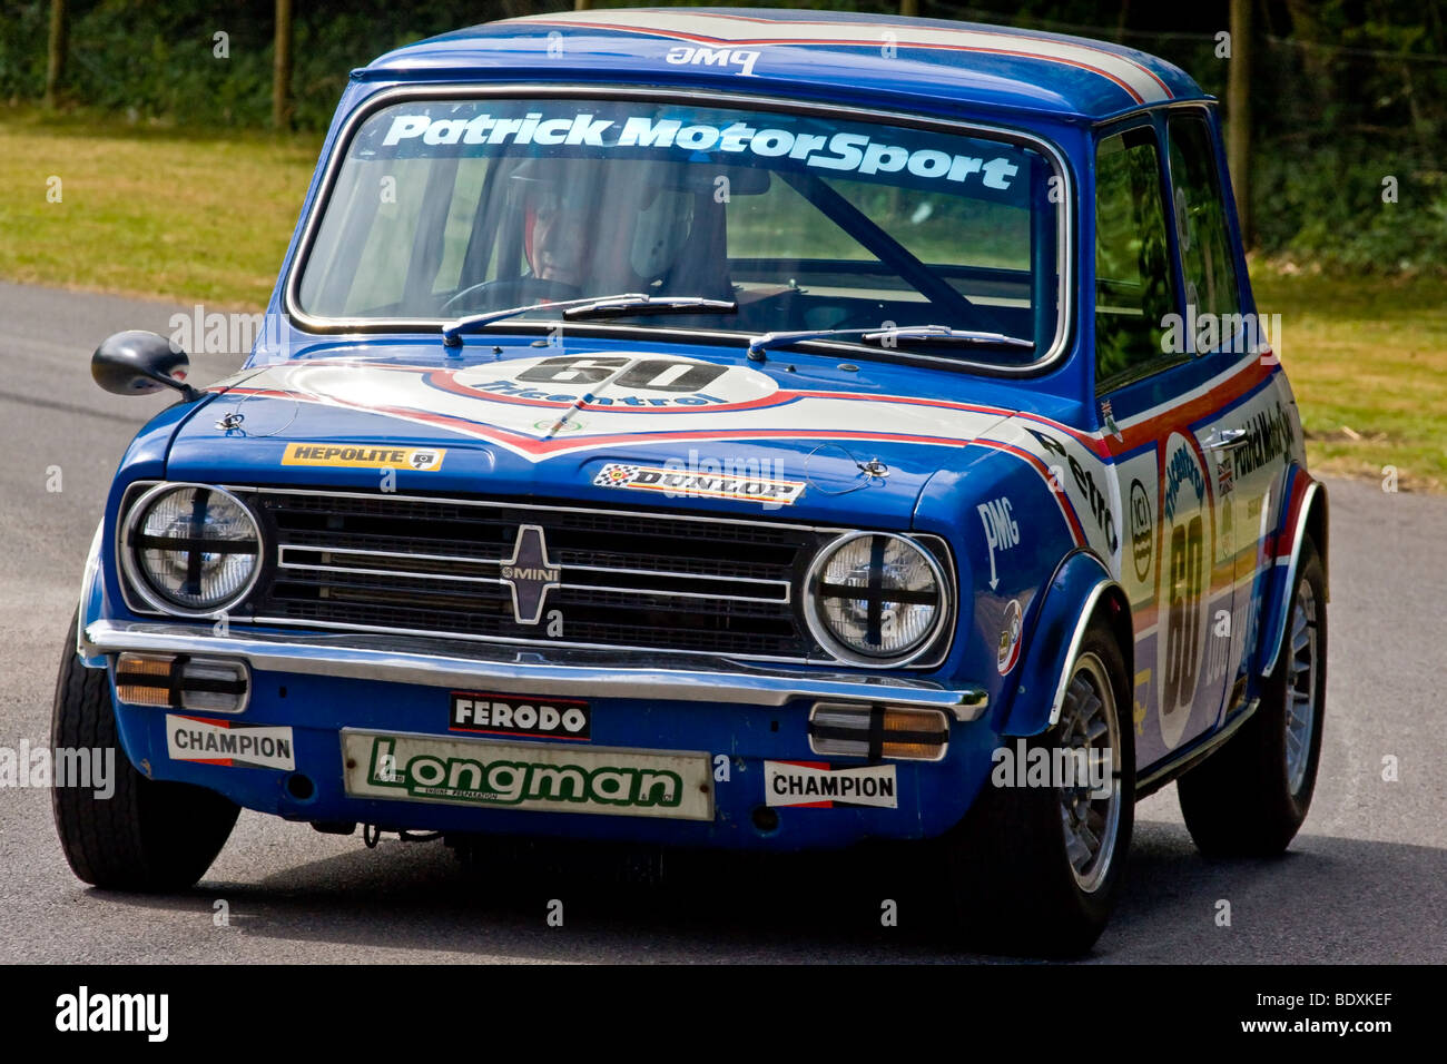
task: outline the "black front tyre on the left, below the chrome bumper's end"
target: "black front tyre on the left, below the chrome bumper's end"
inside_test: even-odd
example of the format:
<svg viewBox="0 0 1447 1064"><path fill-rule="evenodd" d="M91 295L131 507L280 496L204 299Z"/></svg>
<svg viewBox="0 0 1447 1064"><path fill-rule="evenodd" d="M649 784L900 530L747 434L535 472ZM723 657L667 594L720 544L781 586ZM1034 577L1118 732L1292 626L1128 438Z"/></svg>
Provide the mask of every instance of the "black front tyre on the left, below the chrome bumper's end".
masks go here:
<svg viewBox="0 0 1447 1064"><path fill-rule="evenodd" d="M71 621L55 680L51 748L114 751L114 793L52 786L55 831L75 874L106 890L166 892L194 884L221 851L240 806L191 786L146 779L120 747L110 677L75 653ZM94 780L93 780L94 782Z"/></svg>

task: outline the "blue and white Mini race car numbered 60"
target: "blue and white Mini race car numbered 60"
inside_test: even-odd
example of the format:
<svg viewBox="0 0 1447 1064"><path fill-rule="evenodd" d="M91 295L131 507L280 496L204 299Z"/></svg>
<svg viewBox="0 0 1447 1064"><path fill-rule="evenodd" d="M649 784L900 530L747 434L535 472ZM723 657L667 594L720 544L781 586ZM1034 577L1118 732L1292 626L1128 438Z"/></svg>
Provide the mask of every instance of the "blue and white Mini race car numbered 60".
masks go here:
<svg viewBox="0 0 1447 1064"><path fill-rule="evenodd" d="M926 19L606 10L353 74L246 366L150 333L55 699L77 876L324 831L922 840L1078 953L1133 806L1311 801L1327 495L1215 101Z"/></svg>

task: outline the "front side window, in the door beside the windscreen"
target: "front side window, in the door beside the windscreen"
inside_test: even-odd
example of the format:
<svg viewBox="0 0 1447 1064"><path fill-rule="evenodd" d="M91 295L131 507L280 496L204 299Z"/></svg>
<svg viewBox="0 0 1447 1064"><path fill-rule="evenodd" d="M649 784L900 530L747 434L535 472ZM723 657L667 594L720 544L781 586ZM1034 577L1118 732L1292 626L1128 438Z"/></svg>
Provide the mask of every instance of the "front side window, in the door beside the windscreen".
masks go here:
<svg viewBox="0 0 1447 1064"><path fill-rule="evenodd" d="M1095 153L1095 381L1107 391L1179 360L1162 343L1175 313L1160 156L1149 126Z"/></svg>

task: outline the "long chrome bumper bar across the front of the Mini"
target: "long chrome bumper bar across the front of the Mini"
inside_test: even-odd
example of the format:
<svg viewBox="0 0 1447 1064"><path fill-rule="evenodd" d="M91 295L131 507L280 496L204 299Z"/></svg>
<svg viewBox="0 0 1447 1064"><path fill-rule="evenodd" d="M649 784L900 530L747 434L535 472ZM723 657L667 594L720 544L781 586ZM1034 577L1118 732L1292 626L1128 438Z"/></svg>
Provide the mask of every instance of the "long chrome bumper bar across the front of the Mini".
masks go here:
<svg viewBox="0 0 1447 1064"><path fill-rule="evenodd" d="M978 719L988 696L978 688L945 688L903 676L778 670L706 654L658 656L362 634L236 633L210 625L93 621L81 637L87 654L150 651L240 657L262 672L418 683L486 686L498 693L554 698L637 698L673 702L786 705L793 699L881 702L943 709Z"/></svg>

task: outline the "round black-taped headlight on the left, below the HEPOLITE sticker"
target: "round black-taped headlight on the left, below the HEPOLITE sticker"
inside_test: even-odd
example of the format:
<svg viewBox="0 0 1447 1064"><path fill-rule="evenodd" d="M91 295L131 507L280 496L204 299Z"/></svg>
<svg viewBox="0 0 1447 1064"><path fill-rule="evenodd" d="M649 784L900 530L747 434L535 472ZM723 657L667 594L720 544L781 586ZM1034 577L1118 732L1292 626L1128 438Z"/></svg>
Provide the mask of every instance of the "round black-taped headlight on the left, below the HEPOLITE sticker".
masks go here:
<svg viewBox="0 0 1447 1064"><path fill-rule="evenodd" d="M245 598L260 569L256 518L220 488L158 485L127 527L132 582L159 609L214 614Z"/></svg>

